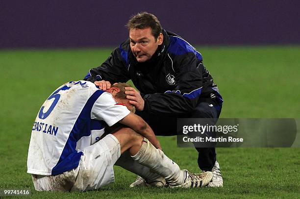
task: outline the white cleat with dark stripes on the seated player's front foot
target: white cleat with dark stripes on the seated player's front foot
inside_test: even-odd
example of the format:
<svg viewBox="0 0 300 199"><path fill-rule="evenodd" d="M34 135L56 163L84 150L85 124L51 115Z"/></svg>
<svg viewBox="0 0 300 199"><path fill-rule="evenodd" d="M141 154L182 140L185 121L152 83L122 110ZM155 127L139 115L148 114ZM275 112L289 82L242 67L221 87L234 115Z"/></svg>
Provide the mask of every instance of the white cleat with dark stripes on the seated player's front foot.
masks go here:
<svg viewBox="0 0 300 199"><path fill-rule="evenodd" d="M197 188L205 187L213 178L212 172L204 172L200 174L194 174L188 170L181 170L184 172L184 181L180 185L170 185L171 188L183 187L183 188Z"/></svg>

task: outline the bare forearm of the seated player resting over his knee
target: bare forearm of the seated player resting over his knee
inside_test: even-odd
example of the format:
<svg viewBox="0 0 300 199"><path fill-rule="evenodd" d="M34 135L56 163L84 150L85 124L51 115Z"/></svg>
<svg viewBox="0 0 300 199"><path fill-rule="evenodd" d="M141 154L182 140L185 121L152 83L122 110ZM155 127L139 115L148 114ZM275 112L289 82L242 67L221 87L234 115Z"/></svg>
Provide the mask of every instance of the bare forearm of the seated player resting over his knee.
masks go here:
<svg viewBox="0 0 300 199"><path fill-rule="evenodd" d="M156 149L161 149L160 143L153 130L141 117L130 112L125 118L120 120L119 123L129 126L137 133L146 137Z"/></svg>

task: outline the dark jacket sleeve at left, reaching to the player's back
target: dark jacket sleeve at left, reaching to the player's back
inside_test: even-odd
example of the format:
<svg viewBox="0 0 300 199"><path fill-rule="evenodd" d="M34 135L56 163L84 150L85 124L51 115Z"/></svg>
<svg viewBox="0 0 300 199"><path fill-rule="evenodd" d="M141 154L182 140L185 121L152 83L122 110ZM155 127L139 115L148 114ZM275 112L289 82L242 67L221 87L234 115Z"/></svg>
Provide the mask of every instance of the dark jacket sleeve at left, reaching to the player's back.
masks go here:
<svg viewBox="0 0 300 199"><path fill-rule="evenodd" d="M127 82L128 74L128 52L122 46L113 50L110 56L99 67L93 68L85 76L84 80L95 82L100 80L116 82Z"/></svg>

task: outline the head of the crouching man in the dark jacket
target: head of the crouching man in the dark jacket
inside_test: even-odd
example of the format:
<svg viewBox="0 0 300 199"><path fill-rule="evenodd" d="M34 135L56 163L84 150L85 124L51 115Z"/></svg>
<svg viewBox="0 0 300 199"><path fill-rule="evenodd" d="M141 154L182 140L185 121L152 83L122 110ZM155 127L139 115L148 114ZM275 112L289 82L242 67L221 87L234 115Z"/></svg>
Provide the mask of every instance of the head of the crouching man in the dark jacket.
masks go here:
<svg viewBox="0 0 300 199"><path fill-rule="evenodd" d="M150 60L164 39L158 19L150 13L142 12L132 16L126 27L129 30L130 48L136 60Z"/></svg>

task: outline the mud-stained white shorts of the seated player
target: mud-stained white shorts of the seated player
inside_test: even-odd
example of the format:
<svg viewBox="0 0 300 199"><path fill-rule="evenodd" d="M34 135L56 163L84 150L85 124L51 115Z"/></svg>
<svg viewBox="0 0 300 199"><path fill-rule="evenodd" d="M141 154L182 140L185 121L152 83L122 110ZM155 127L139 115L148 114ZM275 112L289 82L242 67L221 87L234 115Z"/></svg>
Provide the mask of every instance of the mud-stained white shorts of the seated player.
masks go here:
<svg viewBox="0 0 300 199"><path fill-rule="evenodd" d="M59 175L32 174L37 191L87 191L114 182L113 165L121 155L119 141L112 134L83 150L77 168Z"/></svg>

